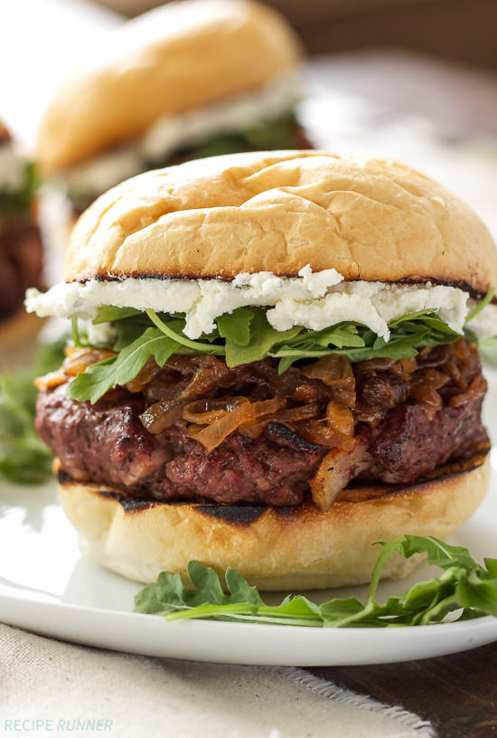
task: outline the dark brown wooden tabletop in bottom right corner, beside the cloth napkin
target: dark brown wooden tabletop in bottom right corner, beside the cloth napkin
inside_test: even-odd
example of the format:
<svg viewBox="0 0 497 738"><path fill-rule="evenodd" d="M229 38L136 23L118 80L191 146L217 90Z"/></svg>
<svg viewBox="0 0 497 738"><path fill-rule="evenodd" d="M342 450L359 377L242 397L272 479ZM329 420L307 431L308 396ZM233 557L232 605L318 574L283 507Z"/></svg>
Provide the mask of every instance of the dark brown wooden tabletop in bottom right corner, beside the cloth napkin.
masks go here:
<svg viewBox="0 0 497 738"><path fill-rule="evenodd" d="M497 643L372 667L314 667L316 676L429 720L437 738L497 736Z"/></svg>

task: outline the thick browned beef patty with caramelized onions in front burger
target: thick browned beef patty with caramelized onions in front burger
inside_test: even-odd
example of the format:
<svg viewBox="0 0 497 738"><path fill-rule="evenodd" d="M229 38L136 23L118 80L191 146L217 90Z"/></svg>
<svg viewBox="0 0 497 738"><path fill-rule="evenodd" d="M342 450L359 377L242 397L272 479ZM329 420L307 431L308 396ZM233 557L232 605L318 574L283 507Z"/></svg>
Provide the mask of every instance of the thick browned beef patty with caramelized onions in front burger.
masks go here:
<svg viewBox="0 0 497 738"><path fill-rule="evenodd" d="M463 338L416 359L328 359L278 375L272 359L229 369L212 356L173 356L94 405L67 399L66 383L42 391L36 427L80 481L129 497L275 506L298 505L337 449L340 487L352 478L409 484L487 440L486 383L475 346ZM198 426L183 415L239 396L284 405L214 449L192 438Z"/></svg>

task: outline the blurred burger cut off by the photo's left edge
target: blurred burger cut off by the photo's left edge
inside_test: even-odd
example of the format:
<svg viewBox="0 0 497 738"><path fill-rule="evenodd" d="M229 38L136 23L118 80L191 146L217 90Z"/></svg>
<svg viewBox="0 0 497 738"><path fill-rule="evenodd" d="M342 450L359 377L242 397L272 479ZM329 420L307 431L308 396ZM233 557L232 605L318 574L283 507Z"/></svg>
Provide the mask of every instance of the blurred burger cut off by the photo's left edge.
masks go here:
<svg viewBox="0 0 497 738"><path fill-rule="evenodd" d="M24 312L25 290L42 288L42 238L36 218L36 176L0 121L0 350L33 336L40 325Z"/></svg>

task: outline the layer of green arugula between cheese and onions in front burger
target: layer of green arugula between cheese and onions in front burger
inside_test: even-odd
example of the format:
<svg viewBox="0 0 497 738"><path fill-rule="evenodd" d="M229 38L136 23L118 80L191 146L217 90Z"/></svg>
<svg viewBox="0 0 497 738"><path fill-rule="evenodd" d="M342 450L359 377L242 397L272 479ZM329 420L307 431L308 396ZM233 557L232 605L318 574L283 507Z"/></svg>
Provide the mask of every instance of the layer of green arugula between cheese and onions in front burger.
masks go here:
<svg viewBox="0 0 497 738"><path fill-rule="evenodd" d="M417 355L425 346L450 344L460 338L435 313L413 313L390 323L386 343L360 323L344 322L321 331L294 326L277 331L267 321L265 307L238 307L217 318L209 336L192 341L184 335L184 317L139 312L127 307L100 307L93 323L112 322L116 337L114 358L93 364L70 383L73 400L97 402L108 390L130 382L151 356L160 366L172 353L224 357L230 367L265 357L278 360L285 372L295 361L311 361L329 354L346 356L352 364L373 358L401 359ZM74 341L84 341L74 327ZM468 332L468 336L469 335Z"/></svg>

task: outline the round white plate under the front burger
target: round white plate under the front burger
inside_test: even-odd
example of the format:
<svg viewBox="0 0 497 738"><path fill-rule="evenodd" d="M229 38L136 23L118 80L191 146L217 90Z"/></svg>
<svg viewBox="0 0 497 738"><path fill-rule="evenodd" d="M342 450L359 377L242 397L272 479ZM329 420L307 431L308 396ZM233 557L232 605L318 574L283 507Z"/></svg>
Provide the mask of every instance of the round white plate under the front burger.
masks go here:
<svg viewBox="0 0 497 738"><path fill-rule="evenodd" d="M484 417L497 441L497 372ZM475 558L497 557L497 449L492 486L472 520L454 536ZM382 582L380 597L431 575L418 569L402 582ZM377 664L453 653L497 639L497 619L399 629L320 629L202 620L166 623L138 615L140 585L82 557L57 504L55 486L0 486L0 618L59 639L150 656L243 664L340 666ZM367 588L334 591L366 597ZM327 599L329 592L311 594ZM277 601L282 595L275 595Z"/></svg>

